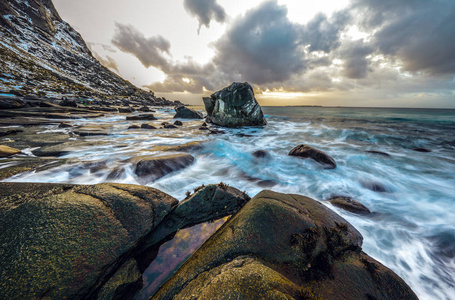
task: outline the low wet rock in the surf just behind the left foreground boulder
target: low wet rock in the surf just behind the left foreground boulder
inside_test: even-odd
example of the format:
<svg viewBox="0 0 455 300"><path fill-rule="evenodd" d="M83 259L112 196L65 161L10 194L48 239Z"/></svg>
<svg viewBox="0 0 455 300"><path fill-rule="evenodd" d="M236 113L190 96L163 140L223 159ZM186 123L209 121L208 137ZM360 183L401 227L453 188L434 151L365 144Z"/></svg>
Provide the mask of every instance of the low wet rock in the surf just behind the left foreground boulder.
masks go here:
<svg viewBox="0 0 455 300"><path fill-rule="evenodd" d="M140 181L149 183L188 167L194 162L194 157L189 154L142 156L132 159L132 162Z"/></svg>

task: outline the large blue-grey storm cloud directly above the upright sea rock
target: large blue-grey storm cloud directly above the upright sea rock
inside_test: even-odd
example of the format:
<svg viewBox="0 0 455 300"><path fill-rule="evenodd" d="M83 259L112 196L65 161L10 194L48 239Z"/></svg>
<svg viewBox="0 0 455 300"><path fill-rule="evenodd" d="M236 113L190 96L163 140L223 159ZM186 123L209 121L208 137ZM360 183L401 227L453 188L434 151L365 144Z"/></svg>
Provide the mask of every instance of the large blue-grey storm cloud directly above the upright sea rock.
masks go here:
<svg viewBox="0 0 455 300"><path fill-rule="evenodd" d="M214 62L223 72L256 84L287 80L305 68L300 32L286 7L265 2L237 19L215 43Z"/></svg>

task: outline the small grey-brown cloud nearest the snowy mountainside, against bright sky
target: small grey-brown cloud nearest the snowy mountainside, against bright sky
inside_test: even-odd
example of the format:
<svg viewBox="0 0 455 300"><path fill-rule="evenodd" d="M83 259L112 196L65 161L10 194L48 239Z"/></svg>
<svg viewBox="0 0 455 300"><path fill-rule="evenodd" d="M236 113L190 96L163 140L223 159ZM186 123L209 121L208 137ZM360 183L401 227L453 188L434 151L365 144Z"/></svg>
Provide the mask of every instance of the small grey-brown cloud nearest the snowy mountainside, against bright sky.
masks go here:
<svg viewBox="0 0 455 300"><path fill-rule="evenodd" d="M133 26L116 23L112 44L136 56L145 67L168 68L168 59L163 54L170 54L171 44L162 36L146 38Z"/></svg>

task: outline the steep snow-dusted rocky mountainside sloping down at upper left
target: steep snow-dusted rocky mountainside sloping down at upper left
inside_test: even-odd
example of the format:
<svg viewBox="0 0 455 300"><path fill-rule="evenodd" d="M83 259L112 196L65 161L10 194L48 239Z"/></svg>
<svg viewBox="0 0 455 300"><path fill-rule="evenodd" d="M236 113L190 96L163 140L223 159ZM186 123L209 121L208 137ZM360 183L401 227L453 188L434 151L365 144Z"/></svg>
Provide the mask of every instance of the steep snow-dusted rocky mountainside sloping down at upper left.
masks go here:
<svg viewBox="0 0 455 300"><path fill-rule="evenodd" d="M102 66L51 0L0 1L0 92L12 91L154 98Z"/></svg>

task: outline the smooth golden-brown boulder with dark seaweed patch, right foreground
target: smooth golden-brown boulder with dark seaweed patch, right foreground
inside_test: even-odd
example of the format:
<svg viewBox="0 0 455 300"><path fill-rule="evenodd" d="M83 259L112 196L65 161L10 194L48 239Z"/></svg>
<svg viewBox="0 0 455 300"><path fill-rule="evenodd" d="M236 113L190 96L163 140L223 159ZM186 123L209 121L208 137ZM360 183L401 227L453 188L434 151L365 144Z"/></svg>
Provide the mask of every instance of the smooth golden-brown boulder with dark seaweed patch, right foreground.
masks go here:
<svg viewBox="0 0 455 300"><path fill-rule="evenodd" d="M417 299L361 246L360 233L319 202L263 191L151 299Z"/></svg>

